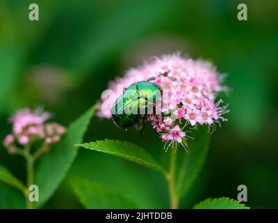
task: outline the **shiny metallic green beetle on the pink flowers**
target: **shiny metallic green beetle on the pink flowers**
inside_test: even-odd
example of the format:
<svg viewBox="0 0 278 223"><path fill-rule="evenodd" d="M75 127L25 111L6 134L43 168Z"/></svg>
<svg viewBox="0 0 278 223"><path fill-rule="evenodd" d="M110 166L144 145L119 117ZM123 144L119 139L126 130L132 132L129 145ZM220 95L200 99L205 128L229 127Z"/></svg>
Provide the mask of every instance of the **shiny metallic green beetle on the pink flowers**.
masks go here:
<svg viewBox="0 0 278 223"><path fill-rule="evenodd" d="M117 98L111 109L115 125L126 130L139 123L142 131L147 114L154 113L156 100L161 95L161 88L150 80L131 84Z"/></svg>

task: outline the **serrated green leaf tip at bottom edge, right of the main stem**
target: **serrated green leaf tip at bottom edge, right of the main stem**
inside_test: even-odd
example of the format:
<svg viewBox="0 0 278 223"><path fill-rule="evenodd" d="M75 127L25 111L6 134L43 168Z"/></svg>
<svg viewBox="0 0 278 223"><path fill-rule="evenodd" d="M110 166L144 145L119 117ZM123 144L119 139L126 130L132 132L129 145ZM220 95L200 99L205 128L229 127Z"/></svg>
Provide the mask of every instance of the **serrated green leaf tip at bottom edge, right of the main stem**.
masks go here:
<svg viewBox="0 0 278 223"><path fill-rule="evenodd" d="M208 198L194 206L194 209L250 209L243 203L234 201L227 197L221 197L218 199Z"/></svg>

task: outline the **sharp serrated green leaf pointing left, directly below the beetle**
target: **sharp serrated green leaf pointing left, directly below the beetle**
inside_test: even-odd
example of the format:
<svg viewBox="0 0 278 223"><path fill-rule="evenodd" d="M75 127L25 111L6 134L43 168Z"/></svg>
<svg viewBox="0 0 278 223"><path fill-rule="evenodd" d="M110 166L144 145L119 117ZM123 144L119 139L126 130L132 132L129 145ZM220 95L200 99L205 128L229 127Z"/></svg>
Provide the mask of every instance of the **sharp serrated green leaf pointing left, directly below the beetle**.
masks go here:
<svg viewBox="0 0 278 223"><path fill-rule="evenodd" d="M115 155L117 157L121 157L122 159L136 162L137 164L149 167L165 174L164 169L156 162L156 160L154 160L152 155L145 151L144 148L141 148L140 146L136 146L126 141L106 139L105 141L78 144L76 146L81 146L93 151Z"/></svg>

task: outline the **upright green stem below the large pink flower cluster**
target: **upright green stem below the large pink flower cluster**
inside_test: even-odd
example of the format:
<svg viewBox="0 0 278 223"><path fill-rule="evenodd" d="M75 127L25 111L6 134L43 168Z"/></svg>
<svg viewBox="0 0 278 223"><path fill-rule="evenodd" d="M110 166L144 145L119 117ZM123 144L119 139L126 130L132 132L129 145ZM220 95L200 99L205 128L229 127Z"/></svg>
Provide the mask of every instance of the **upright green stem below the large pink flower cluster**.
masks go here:
<svg viewBox="0 0 278 223"><path fill-rule="evenodd" d="M179 206L179 199L177 197L176 192L176 153L174 149L171 150L170 155L170 169L169 173L166 176L168 187L169 187L169 198L170 198L170 208L171 209L177 209Z"/></svg>

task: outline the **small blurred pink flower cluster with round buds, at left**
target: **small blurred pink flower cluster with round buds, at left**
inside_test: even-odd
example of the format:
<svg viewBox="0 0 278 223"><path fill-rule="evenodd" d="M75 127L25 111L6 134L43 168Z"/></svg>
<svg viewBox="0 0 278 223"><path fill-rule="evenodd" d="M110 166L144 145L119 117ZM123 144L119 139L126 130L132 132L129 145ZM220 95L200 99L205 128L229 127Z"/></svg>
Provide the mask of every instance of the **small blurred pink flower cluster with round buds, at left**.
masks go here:
<svg viewBox="0 0 278 223"><path fill-rule="evenodd" d="M25 146L36 139L43 140L46 144L54 144L60 141L60 137L66 132L66 128L56 123L45 123L49 113L40 109L32 112L30 109L19 110L10 118L13 123L13 132L8 134L3 141L6 148L19 144Z"/></svg>

